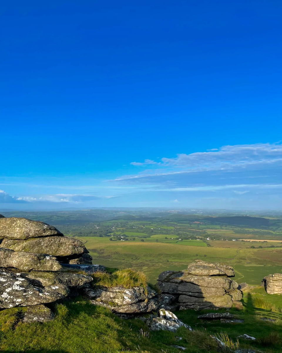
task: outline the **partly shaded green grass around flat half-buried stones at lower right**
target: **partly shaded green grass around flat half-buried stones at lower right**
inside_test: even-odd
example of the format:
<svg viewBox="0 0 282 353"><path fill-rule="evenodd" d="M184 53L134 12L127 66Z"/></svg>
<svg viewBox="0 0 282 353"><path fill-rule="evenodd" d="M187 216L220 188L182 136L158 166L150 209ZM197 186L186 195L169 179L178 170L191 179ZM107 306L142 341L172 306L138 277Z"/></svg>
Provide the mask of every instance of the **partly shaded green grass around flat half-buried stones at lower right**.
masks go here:
<svg viewBox="0 0 282 353"><path fill-rule="evenodd" d="M282 351L282 296L267 294L262 287L256 287L249 293L244 293L243 310L230 309L235 318L243 319L243 323L225 324L219 320L204 321L197 318L207 311L184 310L176 312L183 322L192 328L205 329L211 334L226 333L233 342L237 336L247 334L256 337L256 342L239 339L240 348L252 348L267 353ZM225 312L225 310L219 310ZM262 318L275 322L264 321Z"/></svg>

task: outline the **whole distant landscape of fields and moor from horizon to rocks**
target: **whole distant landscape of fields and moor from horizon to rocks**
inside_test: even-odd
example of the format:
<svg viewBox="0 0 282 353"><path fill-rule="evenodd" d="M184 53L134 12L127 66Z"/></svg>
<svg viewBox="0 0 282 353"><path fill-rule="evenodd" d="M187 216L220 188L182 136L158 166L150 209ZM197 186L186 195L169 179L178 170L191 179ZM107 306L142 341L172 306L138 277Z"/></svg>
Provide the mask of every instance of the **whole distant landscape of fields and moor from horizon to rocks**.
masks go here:
<svg viewBox="0 0 282 353"><path fill-rule="evenodd" d="M51 224L85 242L93 263L142 270L150 282L195 259L223 262L235 280L258 285L282 271L282 216L192 210L2 212ZM190 214L189 214L190 212Z"/></svg>

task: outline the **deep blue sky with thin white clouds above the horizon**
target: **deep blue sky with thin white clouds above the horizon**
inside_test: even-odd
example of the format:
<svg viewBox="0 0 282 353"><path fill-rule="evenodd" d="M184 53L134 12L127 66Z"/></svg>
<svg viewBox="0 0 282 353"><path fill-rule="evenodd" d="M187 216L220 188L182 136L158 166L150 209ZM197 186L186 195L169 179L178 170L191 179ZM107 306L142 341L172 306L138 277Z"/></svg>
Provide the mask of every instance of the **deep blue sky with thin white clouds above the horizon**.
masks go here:
<svg viewBox="0 0 282 353"><path fill-rule="evenodd" d="M281 210L281 16L281 1L4 4L0 210Z"/></svg>

